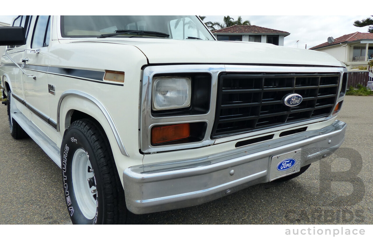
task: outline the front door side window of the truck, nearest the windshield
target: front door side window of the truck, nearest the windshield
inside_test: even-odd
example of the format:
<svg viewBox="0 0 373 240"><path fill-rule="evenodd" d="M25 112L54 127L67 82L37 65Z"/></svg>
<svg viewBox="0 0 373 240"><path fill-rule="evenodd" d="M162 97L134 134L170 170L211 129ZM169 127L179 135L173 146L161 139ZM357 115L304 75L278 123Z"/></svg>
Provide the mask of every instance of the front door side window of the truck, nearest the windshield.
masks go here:
<svg viewBox="0 0 373 240"><path fill-rule="evenodd" d="M50 40L50 16L38 16L32 34L31 48L47 47Z"/></svg>

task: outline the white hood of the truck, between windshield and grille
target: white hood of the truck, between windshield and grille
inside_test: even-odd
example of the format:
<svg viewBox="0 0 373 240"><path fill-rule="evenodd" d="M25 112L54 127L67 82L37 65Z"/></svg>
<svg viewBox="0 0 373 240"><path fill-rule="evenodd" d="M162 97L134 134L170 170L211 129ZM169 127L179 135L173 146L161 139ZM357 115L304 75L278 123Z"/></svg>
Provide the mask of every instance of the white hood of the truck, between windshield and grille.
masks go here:
<svg viewBox="0 0 373 240"><path fill-rule="evenodd" d="M90 39L84 42L133 45L145 54L150 64L300 64L345 67L325 52L258 42L154 38Z"/></svg>

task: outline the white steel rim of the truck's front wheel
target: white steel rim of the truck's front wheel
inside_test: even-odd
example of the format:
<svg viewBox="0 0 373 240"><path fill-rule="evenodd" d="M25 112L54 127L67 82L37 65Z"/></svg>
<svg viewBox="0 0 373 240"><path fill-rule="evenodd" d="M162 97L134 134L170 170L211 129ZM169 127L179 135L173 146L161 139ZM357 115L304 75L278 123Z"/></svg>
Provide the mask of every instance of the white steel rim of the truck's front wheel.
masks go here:
<svg viewBox="0 0 373 240"><path fill-rule="evenodd" d="M86 151L79 148L75 151L72 158L72 185L76 202L79 209L88 219L93 219L96 215L97 208L97 189L96 186L91 186L88 179L94 178L94 172L90 172L92 164Z"/></svg>

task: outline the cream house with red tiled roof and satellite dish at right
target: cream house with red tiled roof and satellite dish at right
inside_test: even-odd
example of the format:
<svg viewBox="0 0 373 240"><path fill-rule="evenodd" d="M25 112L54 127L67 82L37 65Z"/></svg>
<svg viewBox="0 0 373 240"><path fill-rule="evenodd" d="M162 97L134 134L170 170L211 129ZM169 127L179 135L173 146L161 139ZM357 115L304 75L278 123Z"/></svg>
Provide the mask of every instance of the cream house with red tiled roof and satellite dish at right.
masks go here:
<svg viewBox="0 0 373 240"><path fill-rule="evenodd" d="M329 39L330 40L330 39ZM354 32L310 48L326 52L348 65L348 70L364 70L373 59L373 33Z"/></svg>

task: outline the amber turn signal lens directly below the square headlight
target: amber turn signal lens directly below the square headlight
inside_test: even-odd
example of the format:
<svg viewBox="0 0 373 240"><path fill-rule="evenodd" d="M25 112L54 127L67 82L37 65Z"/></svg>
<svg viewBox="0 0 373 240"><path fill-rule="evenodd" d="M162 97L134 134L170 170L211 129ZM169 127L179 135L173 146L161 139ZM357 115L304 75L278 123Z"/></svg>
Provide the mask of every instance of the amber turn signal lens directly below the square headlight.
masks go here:
<svg viewBox="0 0 373 240"><path fill-rule="evenodd" d="M190 136L190 127L188 123L174 124L167 126L157 126L151 129L151 143L165 143L169 141L180 140Z"/></svg>

